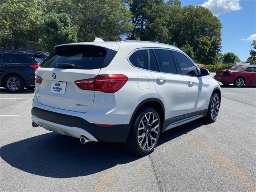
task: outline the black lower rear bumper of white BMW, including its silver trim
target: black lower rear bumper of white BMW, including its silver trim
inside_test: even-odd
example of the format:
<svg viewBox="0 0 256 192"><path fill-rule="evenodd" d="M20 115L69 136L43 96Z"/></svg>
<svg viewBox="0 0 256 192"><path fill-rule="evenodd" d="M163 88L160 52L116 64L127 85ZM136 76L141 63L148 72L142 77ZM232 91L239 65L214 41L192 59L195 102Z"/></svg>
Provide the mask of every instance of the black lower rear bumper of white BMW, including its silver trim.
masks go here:
<svg viewBox="0 0 256 192"><path fill-rule="evenodd" d="M75 138L86 136L91 141L125 142L130 130L129 124L113 125L112 128L97 127L83 118L37 107L32 108L31 114L32 120L47 130Z"/></svg>

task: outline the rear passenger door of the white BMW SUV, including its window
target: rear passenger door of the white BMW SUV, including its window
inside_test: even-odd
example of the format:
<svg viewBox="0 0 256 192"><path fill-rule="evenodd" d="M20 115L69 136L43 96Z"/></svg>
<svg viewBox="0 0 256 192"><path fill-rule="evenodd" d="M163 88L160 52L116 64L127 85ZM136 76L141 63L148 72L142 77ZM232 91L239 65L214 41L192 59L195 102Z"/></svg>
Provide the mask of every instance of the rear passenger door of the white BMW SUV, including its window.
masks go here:
<svg viewBox="0 0 256 192"><path fill-rule="evenodd" d="M166 124L174 117L183 116L186 111L188 88L186 80L178 74L170 50L148 49L150 74L158 92L159 99L164 103Z"/></svg>

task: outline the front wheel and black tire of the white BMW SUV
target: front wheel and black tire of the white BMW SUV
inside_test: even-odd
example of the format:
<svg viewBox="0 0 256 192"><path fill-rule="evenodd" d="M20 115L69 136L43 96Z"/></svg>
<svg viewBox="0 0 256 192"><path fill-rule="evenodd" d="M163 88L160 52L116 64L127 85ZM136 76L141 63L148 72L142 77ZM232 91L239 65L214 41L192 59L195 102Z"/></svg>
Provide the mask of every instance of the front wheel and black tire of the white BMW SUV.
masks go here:
<svg viewBox="0 0 256 192"><path fill-rule="evenodd" d="M217 104L214 104L215 99L218 101ZM218 94L214 93L212 95L212 98L210 99L210 103L208 106L208 112L205 116L206 121L209 123L215 122L218 117L218 114L219 114L219 109L220 109L220 97L218 96ZM212 110L213 110L214 114L212 113ZM215 112L217 112L217 114Z"/></svg>

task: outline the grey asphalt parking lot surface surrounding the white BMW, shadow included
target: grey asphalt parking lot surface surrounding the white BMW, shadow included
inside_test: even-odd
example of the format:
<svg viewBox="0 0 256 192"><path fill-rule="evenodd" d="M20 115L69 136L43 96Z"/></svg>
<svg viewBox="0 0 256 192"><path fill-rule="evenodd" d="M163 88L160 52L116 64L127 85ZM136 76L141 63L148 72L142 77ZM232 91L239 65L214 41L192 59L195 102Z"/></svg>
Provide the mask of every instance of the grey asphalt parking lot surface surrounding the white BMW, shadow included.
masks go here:
<svg viewBox="0 0 256 192"><path fill-rule="evenodd" d="M0 191L256 191L256 87L222 87L215 123L160 136L148 156L31 126L33 90L0 88Z"/></svg>

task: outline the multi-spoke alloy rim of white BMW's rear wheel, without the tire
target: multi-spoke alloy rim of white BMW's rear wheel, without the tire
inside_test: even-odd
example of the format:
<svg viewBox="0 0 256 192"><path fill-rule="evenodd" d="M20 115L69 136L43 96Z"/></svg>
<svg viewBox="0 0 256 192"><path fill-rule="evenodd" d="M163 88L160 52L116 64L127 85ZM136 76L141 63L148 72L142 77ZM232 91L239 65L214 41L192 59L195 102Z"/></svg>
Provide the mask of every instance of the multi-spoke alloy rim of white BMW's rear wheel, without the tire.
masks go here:
<svg viewBox="0 0 256 192"><path fill-rule="evenodd" d="M148 151L156 145L159 134L159 120L154 112L146 113L138 127L138 143L142 150Z"/></svg>

